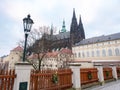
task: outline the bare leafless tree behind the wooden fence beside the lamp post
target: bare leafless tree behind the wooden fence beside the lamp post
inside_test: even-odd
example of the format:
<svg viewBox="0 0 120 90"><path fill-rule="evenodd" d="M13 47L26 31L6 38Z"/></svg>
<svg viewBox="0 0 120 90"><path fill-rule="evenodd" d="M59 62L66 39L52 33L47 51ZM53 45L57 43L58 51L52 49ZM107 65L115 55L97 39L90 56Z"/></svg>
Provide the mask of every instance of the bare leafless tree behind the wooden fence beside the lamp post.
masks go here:
<svg viewBox="0 0 120 90"><path fill-rule="evenodd" d="M39 64L35 64L32 61L27 60L33 65L34 69L41 69L41 62L46 53L49 51L51 44L49 32L50 28L44 26L39 29L34 29L29 34L27 42L27 55L36 54L39 62ZM24 41L21 40L18 44L23 47Z"/></svg>

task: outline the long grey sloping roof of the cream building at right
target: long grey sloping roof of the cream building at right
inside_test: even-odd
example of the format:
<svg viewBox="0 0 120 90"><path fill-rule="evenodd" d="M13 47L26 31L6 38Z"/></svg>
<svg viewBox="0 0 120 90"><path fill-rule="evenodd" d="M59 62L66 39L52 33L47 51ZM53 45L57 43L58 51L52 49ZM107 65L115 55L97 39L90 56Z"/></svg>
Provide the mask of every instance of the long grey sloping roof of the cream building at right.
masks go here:
<svg viewBox="0 0 120 90"><path fill-rule="evenodd" d="M93 44L93 43L105 42L105 41L111 41L111 40L117 40L117 39L120 39L120 33L115 33L115 34L106 35L106 36L102 35L102 36L98 36L98 37L84 39L84 40L80 41L79 43L76 43L75 46Z"/></svg>

